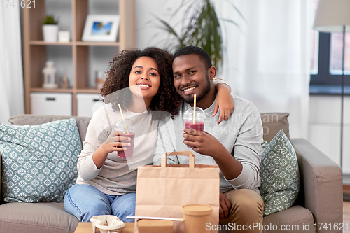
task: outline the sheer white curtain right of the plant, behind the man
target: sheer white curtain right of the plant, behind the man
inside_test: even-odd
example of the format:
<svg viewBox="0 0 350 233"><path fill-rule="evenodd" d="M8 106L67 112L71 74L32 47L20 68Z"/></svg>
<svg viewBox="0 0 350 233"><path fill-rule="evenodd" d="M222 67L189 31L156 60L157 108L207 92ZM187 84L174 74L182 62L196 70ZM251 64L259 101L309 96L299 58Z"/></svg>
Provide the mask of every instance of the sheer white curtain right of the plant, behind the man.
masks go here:
<svg viewBox="0 0 350 233"><path fill-rule="evenodd" d="M221 76L260 113L288 112L290 136L307 139L313 0L216 0L226 52Z"/></svg>

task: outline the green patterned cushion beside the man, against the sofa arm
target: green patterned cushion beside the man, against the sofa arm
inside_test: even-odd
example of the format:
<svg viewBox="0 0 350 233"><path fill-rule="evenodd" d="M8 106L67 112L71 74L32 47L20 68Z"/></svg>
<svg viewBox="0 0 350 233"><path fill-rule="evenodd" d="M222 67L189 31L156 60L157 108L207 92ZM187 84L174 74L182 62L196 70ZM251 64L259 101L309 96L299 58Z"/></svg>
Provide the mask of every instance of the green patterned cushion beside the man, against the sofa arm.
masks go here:
<svg viewBox="0 0 350 233"><path fill-rule="evenodd" d="M283 211L293 205L299 192L299 168L295 150L283 129L262 150L260 178L264 216Z"/></svg>

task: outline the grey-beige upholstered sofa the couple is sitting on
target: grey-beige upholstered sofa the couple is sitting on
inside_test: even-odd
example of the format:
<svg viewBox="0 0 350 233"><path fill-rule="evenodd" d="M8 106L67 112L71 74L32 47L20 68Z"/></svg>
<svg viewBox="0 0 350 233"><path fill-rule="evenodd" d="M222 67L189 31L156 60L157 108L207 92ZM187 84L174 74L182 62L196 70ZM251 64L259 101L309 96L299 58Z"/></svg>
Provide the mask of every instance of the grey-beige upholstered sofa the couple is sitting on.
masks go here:
<svg viewBox="0 0 350 233"><path fill-rule="evenodd" d="M288 113L264 113L261 117L266 141L271 141L279 129L289 136ZM80 139L84 141L90 118L16 115L9 122L13 125L39 125L66 118L76 118ZM290 141L300 170L300 192L293 206L264 217L262 232L342 232L342 170L305 139ZM3 203L2 200L1 196L0 233L73 233L78 225L78 219L64 211L63 203ZM295 228L296 225L299 229Z"/></svg>

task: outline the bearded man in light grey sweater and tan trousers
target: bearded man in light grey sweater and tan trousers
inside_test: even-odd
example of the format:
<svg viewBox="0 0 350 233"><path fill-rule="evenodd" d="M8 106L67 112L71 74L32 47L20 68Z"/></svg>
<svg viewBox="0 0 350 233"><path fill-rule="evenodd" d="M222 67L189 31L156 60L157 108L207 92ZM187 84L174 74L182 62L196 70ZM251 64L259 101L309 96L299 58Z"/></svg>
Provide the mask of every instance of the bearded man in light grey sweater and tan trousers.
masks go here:
<svg viewBox="0 0 350 233"><path fill-rule="evenodd" d="M260 114L251 101L232 97L235 109L228 120L216 123L211 118L217 91L213 79L216 68L205 50L193 46L182 48L173 57L174 85L183 98L179 115L160 122L153 164L160 164L165 152L193 148L196 164L218 164L220 169L220 223L261 232L253 224L262 224L263 202L260 186L260 145L262 124ZM197 107L207 115L204 132L183 129L183 113ZM188 164L188 157L172 156L169 164ZM229 226L230 226L229 225ZM239 232L239 231L235 231Z"/></svg>

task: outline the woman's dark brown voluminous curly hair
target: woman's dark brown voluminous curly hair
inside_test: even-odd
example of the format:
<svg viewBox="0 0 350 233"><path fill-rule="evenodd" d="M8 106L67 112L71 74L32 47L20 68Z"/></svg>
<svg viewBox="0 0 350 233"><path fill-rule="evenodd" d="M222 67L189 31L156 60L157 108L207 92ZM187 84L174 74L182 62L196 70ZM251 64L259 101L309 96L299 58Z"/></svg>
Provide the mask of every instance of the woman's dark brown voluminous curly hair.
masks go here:
<svg viewBox="0 0 350 233"><path fill-rule="evenodd" d="M132 105L132 93L127 87L129 87L130 71L139 57L154 59L160 74L158 93L153 97L150 106L152 118L161 120L167 113L172 114L172 118L174 118L174 115L179 113L180 97L174 87L172 55L160 48L123 50L116 57L113 57L109 63L106 82L99 92L100 96L104 97L104 103L111 103L113 111L118 111L118 104L122 106L123 110Z"/></svg>

